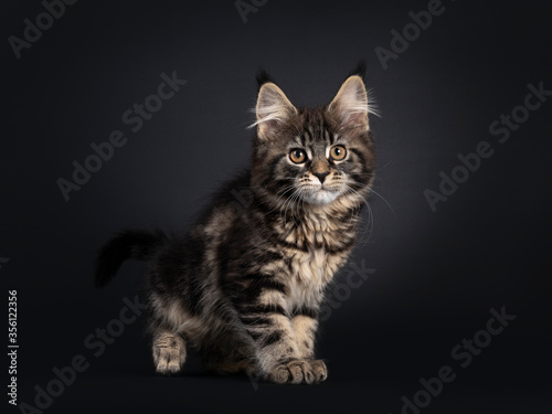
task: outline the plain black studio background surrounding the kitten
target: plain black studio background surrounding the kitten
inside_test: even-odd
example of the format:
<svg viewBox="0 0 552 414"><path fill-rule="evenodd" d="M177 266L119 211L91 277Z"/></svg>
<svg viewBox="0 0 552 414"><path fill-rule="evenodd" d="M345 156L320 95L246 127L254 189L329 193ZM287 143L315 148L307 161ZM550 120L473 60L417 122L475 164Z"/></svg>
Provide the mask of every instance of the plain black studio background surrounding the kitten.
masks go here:
<svg viewBox="0 0 552 414"><path fill-rule="evenodd" d="M529 83L552 89L545 3L444 1L384 70L374 49L390 49L390 31L426 1L268 1L246 23L234 1L78 1L20 60L8 38L44 9L2 2L0 278L4 296L18 290L19 402L34 405L33 388L83 354L89 369L46 412L399 413L421 378L450 365L456 380L422 412L549 413L552 103L505 144L489 134ZM375 273L322 325L329 380L257 386L204 374L193 353L182 376L157 378L144 320L95 358L84 338L117 318L144 273L126 263L95 290L95 250L120 227L185 229L247 166L259 65L308 106L328 103L360 59L382 114L371 118L381 197L369 200L373 231L351 262ZM131 132L123 113L173 71L188 83ZM56 180L116 129L126 146L66 202ZM433 212L424 190L482 140L492 157ZM460 368L452 349L501 307L517 319Z"/></svg>

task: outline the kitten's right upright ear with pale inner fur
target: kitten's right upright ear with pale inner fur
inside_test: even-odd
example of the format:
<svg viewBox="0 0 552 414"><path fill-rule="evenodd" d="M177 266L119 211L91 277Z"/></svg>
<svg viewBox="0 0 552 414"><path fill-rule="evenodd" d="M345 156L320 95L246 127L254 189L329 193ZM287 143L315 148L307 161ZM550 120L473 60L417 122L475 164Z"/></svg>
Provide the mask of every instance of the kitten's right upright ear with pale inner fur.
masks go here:
<svg viewBox="0 0 552 414"><path fill-rule="evenodd" d="M327 110L337 115L341 128L370 129L368 124L368 94L364 82L359 75L352 75L339 88Z"/></svg>

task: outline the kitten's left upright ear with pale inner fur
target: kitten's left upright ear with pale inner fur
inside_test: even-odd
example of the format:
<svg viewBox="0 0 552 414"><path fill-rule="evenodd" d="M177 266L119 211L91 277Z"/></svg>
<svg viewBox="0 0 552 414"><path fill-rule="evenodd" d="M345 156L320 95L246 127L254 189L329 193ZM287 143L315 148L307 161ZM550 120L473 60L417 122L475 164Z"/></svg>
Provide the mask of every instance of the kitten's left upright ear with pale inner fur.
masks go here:
<svg viewBox="0 0 552 414"><path fill-rule="evenodd" d="M276 84L267 82L258 89L255 114L257 121L253 126L257 126L258 138L274 139L278 126L297 114L297 108Z"/></svg>

